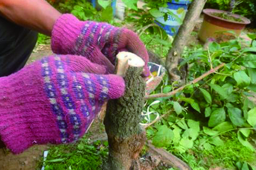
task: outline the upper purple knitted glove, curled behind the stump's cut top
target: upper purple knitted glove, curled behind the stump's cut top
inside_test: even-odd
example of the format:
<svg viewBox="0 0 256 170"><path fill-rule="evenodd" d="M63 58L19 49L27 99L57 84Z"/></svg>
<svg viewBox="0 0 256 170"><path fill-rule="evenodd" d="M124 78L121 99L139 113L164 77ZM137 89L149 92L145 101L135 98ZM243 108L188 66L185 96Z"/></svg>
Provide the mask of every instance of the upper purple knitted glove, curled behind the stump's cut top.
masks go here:
<svg viewBox="0 0 256 170"><path fill-rule="evenodd" d="M51 46L56 54L81 55L105 65L109 73L114 73L117 53L128 50L146 62L143 75L149 75L147 50L139 37L126 28L92 21L81 22L71 14L64 14L53 27Z"/></svg>

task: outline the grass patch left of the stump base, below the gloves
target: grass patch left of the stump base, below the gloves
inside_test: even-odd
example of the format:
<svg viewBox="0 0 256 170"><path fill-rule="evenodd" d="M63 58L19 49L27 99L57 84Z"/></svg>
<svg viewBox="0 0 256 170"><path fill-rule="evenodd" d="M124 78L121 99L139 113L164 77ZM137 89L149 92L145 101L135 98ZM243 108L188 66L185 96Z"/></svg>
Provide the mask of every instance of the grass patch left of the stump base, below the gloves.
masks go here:
<svg viewBox="0 0 256 170"><path fill-rule="evenodd" d="M45 170L98 170L102 169L108 156L108 142L88 144L86 136L69 145L52 146L49 149ZM42 162L38 168L41 168Z"/></svg>

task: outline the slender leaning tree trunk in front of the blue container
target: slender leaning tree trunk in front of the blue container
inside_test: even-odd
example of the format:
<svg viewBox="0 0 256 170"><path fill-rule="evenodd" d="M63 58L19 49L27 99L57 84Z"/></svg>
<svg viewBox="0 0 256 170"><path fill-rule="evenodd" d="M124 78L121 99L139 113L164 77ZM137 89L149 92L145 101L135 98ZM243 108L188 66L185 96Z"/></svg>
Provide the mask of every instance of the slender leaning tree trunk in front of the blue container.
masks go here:
<svg viewBox="0 0 256 170"><path fill-rule="evenodd" d="M175 36L174 42L172 43L172 48L168 52L168 56L166 58L166 68L172 82L179 81L180 83L184 83L178 69L179 59L183 53L187 39L195 27L195 21L199 18L206 2L207 0L193 0L185 16L184 22Z"/></svg>

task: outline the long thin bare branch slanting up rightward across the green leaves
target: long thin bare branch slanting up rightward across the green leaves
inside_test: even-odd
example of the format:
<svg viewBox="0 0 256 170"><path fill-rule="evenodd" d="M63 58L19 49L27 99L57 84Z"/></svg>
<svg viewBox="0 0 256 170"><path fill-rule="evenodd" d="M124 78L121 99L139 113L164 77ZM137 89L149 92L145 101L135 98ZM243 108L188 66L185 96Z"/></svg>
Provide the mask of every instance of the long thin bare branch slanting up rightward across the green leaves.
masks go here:
<svg viewBox="0 0 256 170"><path fill-rule="evenodd" d="M214 69L210 69L209 71L207 71L207 73L199 76L198 78L196 78L195 80L193 80L192 82L189 82L188 84L185 84L184 86L181 86L180 88L177 88L174 91L168 92L167 94L153 94L153 95L147 95L145 96L145 99L154 99L154 98L159 98L159 97L170 97L172 95L177 94L177 92L180 92L181 90L183 90L185 87L187 87L190 84L195 84L197 82L199 82L200 80L204 79L206 76L216 72L218 69L220 69L221 67L223 67L225 65L225 63L221 63L220 65L218 65L217 67L215 67Z"/></svg>

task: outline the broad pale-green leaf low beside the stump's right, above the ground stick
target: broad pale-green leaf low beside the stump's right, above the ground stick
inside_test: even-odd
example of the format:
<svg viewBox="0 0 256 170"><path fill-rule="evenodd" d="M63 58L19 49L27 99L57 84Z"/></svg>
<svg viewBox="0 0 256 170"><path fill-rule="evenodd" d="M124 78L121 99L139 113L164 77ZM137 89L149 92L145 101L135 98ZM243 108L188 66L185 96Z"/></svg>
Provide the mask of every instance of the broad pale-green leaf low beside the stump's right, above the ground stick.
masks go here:
<svg viewBox="0 0 256 170"><path fill-rule="evenodd" d="M174 137L174 132L170 128L168 128L166 125L159 126L158 132L156 132L152 144L156 147L168 146L172 142L172 137Z"/></svg>

